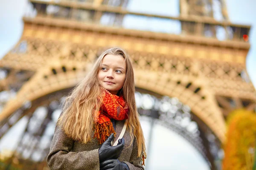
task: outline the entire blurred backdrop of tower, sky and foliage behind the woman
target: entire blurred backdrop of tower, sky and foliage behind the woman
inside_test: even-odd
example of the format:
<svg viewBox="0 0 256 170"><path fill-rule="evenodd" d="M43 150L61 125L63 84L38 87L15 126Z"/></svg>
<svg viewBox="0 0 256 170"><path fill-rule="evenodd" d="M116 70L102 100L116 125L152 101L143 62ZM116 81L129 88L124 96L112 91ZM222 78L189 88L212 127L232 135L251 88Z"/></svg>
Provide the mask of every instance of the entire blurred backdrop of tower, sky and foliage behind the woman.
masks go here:
<svg viewBox="0 0 256 170"><path fill-rule="evenodd" d="M48 170L65 95L130 55L146 170L256 170L255 0L1 0L0 169Z"/></svg>

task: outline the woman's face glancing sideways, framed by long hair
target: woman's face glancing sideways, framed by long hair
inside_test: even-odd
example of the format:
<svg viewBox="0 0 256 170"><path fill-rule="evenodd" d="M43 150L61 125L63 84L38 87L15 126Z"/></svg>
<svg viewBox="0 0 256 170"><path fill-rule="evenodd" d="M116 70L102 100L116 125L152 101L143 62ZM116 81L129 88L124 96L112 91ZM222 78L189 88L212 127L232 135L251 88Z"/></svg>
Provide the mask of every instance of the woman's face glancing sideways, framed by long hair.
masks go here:
<svg viewBox="0 0 256 170"><path fill-rule="evenodd" d="M98 73L99 84L111 94L116 95L124 85L125 74L125 59L120 55L107 54L100 65Z"/></svg>

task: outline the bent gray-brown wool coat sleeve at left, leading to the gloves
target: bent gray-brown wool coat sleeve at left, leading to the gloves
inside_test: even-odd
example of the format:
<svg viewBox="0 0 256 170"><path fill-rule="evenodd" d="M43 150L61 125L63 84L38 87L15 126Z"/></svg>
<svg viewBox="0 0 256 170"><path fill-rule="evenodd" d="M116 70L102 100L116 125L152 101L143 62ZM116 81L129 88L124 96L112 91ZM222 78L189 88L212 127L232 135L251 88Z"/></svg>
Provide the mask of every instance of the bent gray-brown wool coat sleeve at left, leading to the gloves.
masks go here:
<svg viewBox="0 0 256 170"><path fill-rule="evenodd" d="M71 152L74 141L56 126L47 164L51 170L99 170L99 149Z"/></svg>

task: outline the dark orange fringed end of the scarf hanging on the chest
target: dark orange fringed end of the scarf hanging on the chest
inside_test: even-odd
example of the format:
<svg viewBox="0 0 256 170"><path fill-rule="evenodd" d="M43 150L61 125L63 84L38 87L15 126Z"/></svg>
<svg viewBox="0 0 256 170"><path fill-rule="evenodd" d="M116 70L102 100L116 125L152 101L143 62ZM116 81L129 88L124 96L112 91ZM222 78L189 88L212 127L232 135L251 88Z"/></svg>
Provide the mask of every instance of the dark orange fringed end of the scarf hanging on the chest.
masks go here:
<svg viewBox="0 0 256 170"><path fill-rule="evenodd" d="M95 123L95 132L93 138L97 138L99 140L99 144L102 144L108 139L108 136L111 135L111 133L114 133L114 136L116 136L116 132L114 130L112 122L104 122L102 124L99 124L99 122Z"/></svg>

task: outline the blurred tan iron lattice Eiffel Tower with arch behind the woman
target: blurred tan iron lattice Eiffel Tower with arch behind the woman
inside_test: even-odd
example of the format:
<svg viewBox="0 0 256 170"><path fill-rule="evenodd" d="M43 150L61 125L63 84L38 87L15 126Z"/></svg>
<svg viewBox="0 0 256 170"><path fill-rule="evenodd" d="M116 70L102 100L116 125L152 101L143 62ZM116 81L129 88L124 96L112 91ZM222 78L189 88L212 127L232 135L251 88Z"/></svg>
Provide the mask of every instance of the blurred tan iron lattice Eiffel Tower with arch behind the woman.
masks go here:
<svg viewBox="0 0 256 170"><path fill-rule="evenodd" d="M243 35L250 26L230 23L224 0L180 0L177 17L129 11L129 3L29 0L22 37L0 60L0 95L8 96L1 101L0 139L20 119L27 120L9 164L47 167L49 129L55 127L61 101L102 51L119 46L132 59L137 99L154 101L150 108L138 105L142 119L174 130L212 170L220 169L226 117L234 109L256 106L245 69L250 43ZM177 24L180 32L127 28L128 17ZM185 118L196 123L194 131L181 125Z"/></svg>

